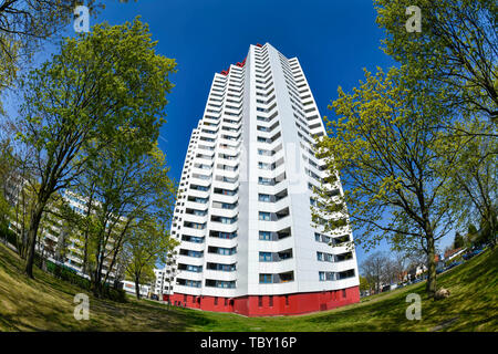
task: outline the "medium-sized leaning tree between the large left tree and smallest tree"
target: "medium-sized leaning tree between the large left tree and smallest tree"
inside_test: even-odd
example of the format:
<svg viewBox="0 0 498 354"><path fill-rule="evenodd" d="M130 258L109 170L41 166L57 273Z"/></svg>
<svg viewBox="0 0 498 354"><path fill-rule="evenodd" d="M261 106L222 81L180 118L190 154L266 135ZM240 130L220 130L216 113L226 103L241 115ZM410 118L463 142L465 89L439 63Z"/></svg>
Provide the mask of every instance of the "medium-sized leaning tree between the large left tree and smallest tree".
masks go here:
<svg viewBox="0 0 498 354"><path fill-rule="evenodd" d="M116 144L89 164L84 175L95 181L95 222L89 235L94 256L89 266L96 296L101 295L135 222L152 217L160 222L169 220L175 187L168 170L157 142L148 152Z"/></svg>

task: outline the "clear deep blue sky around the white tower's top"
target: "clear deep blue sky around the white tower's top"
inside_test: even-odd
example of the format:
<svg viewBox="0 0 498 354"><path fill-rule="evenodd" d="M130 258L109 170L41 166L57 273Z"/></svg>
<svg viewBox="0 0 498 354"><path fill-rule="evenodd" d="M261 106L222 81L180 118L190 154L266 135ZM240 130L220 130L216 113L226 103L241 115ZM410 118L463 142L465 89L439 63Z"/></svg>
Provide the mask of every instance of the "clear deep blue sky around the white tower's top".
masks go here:
<svg viewBox="0 0 498 354"><path fill-rule="evenodd" d="M336 98L338 86L349 91L357 85L363 67L394 65L380 49L383 32L372 0L129 1L106 1L91 25L124 23L139 14L158 41L157 52L176 59L176 86L167 97L159 145L177 180L215 72L242 61L249 44L269 42L286 56L298 56L322 116L332 115L326 106ZM453 235L443 248L452 240ZM357 249L360 263L364 254Z"/></svg>

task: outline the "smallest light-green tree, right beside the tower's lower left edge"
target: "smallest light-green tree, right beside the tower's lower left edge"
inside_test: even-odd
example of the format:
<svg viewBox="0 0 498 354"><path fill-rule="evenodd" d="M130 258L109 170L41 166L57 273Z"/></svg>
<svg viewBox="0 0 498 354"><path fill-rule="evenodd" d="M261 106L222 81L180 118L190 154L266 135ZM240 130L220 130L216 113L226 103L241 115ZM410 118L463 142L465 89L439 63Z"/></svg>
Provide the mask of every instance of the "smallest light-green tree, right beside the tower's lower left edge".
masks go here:
<svg viewBox="0 0 498 354"><path fill-rule="evenodd" d="M157 225L156 220L143 219L132 228L125 244L125 257L128 260L126 272L135 282L138 300L141 282L154 279L156 262L164 263L166 254L176 246L176 240L172 239L164 226Z"/></svg>

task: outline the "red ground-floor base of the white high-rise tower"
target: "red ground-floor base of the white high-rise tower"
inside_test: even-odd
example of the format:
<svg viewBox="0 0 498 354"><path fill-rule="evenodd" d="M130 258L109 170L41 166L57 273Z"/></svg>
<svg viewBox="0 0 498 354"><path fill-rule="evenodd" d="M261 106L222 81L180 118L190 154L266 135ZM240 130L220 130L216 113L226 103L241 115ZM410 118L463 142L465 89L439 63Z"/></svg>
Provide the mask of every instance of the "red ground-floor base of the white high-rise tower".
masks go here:
<svg viewBox="0 0 498 354"><path fill-rule="evenodd" d="M163 295L168 301L168 295ZM240 298L173 294L172 303L206 311L235 312L246 316L271 316L324 311L360 302L359 287L288 295L248 295Z"/></svg>

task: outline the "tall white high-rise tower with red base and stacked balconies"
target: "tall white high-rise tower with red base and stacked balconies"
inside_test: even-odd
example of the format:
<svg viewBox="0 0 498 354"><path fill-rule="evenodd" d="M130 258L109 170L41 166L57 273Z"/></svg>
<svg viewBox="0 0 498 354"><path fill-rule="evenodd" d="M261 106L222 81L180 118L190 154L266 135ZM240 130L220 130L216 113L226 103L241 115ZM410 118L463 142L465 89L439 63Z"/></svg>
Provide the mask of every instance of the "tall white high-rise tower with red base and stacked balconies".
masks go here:
<svg viewBox="0 0 498 354"><path fill-rule="evenodd" d="M340 183L321 185L313 147L324 134L297 58L250 45L215 74L175 207L174 303L256 316L360 300L356 256L344 246L351 230L312 226L313 186L343 192Z"/></svg>

